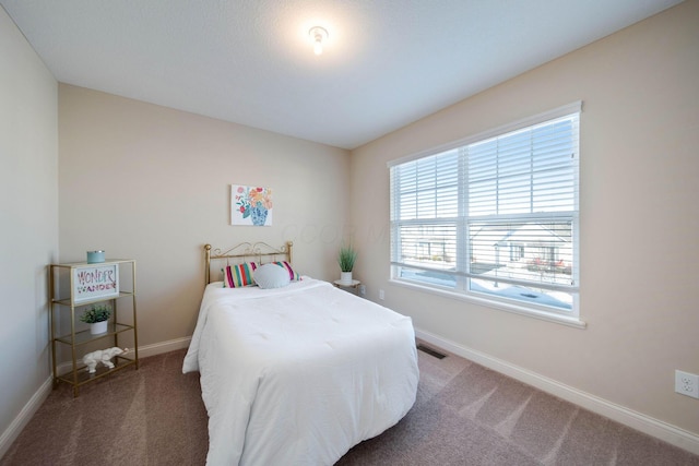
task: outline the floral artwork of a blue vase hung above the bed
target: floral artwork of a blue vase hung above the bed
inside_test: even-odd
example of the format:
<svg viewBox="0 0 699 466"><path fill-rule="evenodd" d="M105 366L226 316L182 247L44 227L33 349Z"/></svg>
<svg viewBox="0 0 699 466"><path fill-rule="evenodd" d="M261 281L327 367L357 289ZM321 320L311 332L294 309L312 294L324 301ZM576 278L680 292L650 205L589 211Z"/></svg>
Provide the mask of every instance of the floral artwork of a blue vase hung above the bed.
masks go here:
<svg viewBox="0 0 699 466"><path fill-rule="evenodd" d="M272 225L270 188L230 184L230 225Z"/></svg>

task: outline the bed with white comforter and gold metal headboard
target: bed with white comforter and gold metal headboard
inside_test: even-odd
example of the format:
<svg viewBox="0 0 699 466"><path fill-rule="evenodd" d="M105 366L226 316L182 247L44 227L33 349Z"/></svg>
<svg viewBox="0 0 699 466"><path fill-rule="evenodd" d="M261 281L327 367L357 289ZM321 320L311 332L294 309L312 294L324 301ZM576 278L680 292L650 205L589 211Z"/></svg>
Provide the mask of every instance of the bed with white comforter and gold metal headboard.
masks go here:
<svg viewBox="0 0 699 466"><path fill-rule="evenodd" d="M206 285L182 371L200 372L210 465L332 465L415 402L411 319L299 276L292 250L204 247ZM284 268L288 284L224 287L235 285L232 268L251 263L260 278L265 263Z"/></svg>

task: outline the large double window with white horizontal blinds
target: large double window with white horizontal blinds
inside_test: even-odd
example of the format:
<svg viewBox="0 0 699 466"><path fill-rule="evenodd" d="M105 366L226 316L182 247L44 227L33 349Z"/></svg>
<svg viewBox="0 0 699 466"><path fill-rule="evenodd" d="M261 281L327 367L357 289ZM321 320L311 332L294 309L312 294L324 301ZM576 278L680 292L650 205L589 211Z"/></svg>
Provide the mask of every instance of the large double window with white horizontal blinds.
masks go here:
<svg viewBox="0 0 699 466"><path fill-rule="evenodd" d="M390 163L391 278L577 319L580 109Z"/></svg>

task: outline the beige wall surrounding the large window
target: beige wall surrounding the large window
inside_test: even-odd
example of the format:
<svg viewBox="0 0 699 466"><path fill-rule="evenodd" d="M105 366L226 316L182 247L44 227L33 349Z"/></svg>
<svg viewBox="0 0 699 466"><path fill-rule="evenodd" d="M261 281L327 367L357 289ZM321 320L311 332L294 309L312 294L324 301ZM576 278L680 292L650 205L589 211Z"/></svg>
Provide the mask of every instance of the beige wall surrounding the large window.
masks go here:
<svg viewBox="0 0 699 466"><path fill-rule="evenodd" d="M699 1L692 0L353 152L356 273L415 326L699 434ZM386 163L573 100L581 115L577 330L389 283ZM631 252L631 253L629 253Z"/></svg>

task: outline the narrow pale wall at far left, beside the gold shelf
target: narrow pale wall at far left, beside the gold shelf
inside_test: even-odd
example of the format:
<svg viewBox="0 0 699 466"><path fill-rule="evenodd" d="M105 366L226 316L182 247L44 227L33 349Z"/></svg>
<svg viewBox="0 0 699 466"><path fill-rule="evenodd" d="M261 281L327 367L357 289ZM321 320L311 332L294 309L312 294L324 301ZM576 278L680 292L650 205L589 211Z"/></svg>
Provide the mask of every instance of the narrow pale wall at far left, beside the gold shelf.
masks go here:
<svg viewBox="0 0 699 466"><path fill-rule="evenodd" d="M50 374L46 264L58 259L58 84L0 7L0 456ZM37 402L37 403L40 403Z"/></svg>

